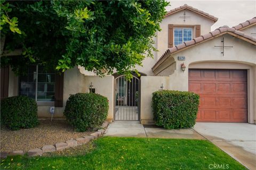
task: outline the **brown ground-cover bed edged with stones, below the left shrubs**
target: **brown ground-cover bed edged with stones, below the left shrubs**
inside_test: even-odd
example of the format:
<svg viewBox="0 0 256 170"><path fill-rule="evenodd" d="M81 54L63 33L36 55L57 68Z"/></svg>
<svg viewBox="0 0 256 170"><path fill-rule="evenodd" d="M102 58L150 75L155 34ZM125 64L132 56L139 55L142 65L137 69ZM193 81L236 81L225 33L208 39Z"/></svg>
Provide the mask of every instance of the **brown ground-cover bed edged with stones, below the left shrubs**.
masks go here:
<svg viewBox="0 0 256 170"><path fill-rule="evenodd" d="M54 145L69 139L76 139L90 135L93 130L75 132L67 121L50 120L39 121L36 128L11 131L1 128L1 152L15 150L28 151L33 148L42 148L44 145Z"/></svg>

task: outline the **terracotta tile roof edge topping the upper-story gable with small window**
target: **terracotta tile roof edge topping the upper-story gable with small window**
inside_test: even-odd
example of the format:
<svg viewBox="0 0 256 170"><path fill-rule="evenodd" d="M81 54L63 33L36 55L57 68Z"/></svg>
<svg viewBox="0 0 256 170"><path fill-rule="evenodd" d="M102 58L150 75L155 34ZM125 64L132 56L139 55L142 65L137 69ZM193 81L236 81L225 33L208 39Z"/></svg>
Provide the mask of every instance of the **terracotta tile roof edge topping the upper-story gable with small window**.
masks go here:
<svg viewBox="0 0 256 170"><path fill-rule="evenodd" d="M173 13L175 13L175 12L178 12L178 11L180 11L180 10L183 10L183 9L188 9L188 10L190 10L190 11L197 12L197 13L199 13L199 14L201 14L201 15L207 17L207 18L212 19L214 22L218 21L218 18L216 18L215 16L210 15L209 13L203 12L203 11L201 11L201 10L198 10L197 8L194 8L194 7L189 6L189 5L187 5L187 4L184 4L184 5L180 6L180 7L177 7L177 8L175 8L175 9L173 9L173 10L167 12L167 14L166 14L165 16L169 16L169 15L171 15L171 14L173 14Z"/></svg>

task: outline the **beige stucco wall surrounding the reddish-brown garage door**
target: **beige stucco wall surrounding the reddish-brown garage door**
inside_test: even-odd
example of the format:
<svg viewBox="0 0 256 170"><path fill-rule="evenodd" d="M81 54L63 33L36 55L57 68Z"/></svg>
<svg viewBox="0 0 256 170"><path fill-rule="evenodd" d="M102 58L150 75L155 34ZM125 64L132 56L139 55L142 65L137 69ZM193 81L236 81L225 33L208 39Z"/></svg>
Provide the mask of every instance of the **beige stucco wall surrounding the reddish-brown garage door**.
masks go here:
<svg viewBox="0 0 256 170"><path fill-rule="evenodd" d="M222 56L222 48L214 47L221 45L221 38L209 40L203 44L196 45L186 50L180 51L169 57L155 73L160 75L166 66L176 62L177 70L173 74L166 73L173 82L177 82L182 91L188 90L188 68L197 69L246 69L248 73L248 122L256 121L256 48L254 45L244 40L230 35L224 35L225 45L233 48L225 48L225 56ZM185 56L185 61L178 61L178 56ZM187 66L182 72L180 65ZM168 67L167 67L168 68ZM177 88L177 87L174 87Z"/></svg>

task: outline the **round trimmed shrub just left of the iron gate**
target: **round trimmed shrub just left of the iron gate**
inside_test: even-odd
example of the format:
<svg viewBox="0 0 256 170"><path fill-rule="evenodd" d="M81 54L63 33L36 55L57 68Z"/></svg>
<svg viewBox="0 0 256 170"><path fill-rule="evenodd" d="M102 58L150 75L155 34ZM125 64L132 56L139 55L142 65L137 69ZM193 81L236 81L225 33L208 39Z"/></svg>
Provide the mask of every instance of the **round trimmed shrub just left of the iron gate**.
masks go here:
<svg viewBox="0 0 256 170"><path fill-rule="evenodd" d="M79 132L100 126L108 115L108 99L93 93L70 95L64 115Z"/></svg>

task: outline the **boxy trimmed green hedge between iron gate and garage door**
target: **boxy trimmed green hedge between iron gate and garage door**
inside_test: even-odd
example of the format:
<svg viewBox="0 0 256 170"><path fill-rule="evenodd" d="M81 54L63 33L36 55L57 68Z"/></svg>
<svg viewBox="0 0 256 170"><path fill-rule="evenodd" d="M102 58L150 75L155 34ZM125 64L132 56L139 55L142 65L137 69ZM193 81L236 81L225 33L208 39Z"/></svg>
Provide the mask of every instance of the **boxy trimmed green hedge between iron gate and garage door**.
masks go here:
<svg viewBox="0 0 256 170"><path fill-rule="evenodd" d="M166 129L191 128L196 123L199 95L188 91L162 90L153 93L156 125Z"/></svg>

